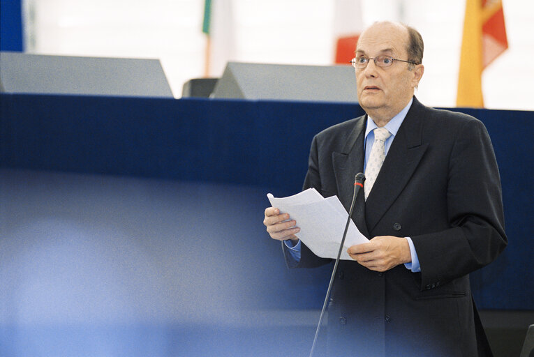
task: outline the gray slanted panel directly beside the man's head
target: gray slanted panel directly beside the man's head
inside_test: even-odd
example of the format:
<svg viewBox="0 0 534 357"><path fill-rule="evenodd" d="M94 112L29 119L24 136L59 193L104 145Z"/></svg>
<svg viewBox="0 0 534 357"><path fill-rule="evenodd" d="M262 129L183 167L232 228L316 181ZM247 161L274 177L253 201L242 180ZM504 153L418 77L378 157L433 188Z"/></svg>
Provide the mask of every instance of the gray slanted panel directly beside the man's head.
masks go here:
<svg viewBox="0 0 534 357"><path fill-rule="evenodd" d="M351 66L229 62L212 98L357 102Z"/></svg>

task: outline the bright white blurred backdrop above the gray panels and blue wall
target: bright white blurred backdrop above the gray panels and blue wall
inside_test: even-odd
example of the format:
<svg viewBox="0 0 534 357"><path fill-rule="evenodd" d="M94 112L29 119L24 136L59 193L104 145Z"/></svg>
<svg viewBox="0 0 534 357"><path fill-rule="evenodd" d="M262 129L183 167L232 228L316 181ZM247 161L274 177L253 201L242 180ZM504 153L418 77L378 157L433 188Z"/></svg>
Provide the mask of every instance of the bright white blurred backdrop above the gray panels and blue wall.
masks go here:
<svg viewBox="0 0 534 357"><path fill-rule="evenodd" d="M10 2L17 3L2 1L2 16ZM465 5L465 0L214 0L206 66L203 0L22 0L23 43L32 54L160 59L179 98L184 82L221 77L229 60L333 64L339 36L396 20L415 26L424 38L418 98L454 107ZM504 1L503 13L508 49L484 70L484 106L533 109L534 3Z"/></svg>

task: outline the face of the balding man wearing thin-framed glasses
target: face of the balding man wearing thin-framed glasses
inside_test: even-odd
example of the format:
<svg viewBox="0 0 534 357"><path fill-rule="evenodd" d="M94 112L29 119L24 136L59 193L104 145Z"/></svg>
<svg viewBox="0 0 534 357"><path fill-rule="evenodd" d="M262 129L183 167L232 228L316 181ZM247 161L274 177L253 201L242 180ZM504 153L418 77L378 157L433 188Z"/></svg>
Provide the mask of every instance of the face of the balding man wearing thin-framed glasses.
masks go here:
<svg viewBox="0 0 534 357"><path fill-rule="evenodd" d="M359 56L380 55L408 60L408 30L396 24L375 24L360 36L356 47ZM378 121L389 121L408 105L422 75L422 65L409 70L408 63L393 61L390 67L378 67L373 60L366 68L356 68L359 105Z"/></svg>

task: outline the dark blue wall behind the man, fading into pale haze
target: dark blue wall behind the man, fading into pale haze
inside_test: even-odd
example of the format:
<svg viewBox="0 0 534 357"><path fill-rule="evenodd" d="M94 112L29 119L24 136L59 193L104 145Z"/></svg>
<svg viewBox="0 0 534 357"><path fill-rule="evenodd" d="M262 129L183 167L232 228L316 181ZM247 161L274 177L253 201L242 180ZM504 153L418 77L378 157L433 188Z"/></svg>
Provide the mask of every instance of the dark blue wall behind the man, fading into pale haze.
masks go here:
<svg viewBox="0 0 534 357"><path fill-rule="evenodd" d="M480 308L534 310L532 112L489 130L510 245ZM285 268L265 195L358 105L0 95L0 355L306 356L330 267ZM284 355L291 356L284 351Z"/></svg>

